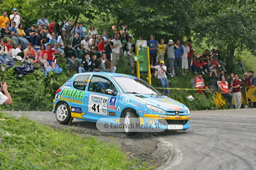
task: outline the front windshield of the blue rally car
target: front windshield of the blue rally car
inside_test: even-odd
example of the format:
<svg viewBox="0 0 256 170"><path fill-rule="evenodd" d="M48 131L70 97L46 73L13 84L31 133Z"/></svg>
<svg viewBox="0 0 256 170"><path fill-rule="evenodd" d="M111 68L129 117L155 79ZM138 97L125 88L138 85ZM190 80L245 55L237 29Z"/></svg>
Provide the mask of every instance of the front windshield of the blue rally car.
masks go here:
<svg viewBox="0 0 256 170"><path fill-rule="evenodd" d="M137 77L112 77L125 94L161 95L153 86Z"/></svg>

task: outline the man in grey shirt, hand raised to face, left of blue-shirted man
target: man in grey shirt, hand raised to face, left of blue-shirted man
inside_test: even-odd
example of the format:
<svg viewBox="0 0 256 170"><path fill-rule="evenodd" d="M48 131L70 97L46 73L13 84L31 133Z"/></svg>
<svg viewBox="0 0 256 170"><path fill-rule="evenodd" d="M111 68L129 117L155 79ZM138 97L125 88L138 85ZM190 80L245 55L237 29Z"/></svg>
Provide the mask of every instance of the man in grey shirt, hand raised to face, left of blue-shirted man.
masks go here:
<svg viewBox="0 0 256 170"><path fill-rule="evenodd" d="M169 40L168 45L166 45L166 51L167 51L166 67L169 69L168 73L171 75L171 77L174 77L175 75L175 72L174 72L175 48L178 48L178 45L174 44L173 40Z"/></svg>

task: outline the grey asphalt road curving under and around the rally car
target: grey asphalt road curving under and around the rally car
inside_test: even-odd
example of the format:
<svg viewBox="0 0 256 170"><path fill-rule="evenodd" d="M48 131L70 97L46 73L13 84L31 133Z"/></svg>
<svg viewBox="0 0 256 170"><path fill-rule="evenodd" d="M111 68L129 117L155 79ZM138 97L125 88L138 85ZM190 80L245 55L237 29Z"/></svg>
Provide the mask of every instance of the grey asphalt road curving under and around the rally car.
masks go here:
<svg viewBox="0 0 256 170"><path fill-rule="evenodd" d="M25 112L9 113L18 116ZM58 124L50 112L26 112L26 115L53 127L67 128ZM102 133L95 123L80 120L73 120L69 127L101 135L98 138L104 141L114 139L120 147L129 146L124 149L127 152L145 153L145 159L159 158L155 162L158 169L256 169L256 108L192 111L191 115L189 130L140 133L137 137Z"/></svg>

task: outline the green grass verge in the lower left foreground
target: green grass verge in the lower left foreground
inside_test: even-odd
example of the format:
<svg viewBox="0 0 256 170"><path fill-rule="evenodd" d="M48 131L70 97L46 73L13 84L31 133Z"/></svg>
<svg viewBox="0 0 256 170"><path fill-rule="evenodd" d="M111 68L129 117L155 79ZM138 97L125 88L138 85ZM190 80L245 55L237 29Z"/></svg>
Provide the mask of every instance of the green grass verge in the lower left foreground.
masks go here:
<svg viewBox="0 0 256 170"><path fill-rule="evenodd" d="M0 169L145 169L119 147L0 113Z"/></svg>

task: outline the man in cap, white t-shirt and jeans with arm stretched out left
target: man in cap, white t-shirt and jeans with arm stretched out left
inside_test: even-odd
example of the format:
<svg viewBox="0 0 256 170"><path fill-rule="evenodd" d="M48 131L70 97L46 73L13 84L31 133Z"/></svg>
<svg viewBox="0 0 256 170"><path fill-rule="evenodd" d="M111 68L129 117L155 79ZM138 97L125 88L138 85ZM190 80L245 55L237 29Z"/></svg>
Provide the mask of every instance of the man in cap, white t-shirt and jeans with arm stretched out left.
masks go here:
<svg viewBox="0 0 256 170"><path fill-rule="evenodd" d="M160 65L156 66L150 66L152 69L157 70L157 77L161 81L161 87L162 88L169 88L168 79L166 77L166 66L164 65L164 61L160 62ZM166 95L170 94L169 89L162 89L163 93L166 93Z"/></svg>

